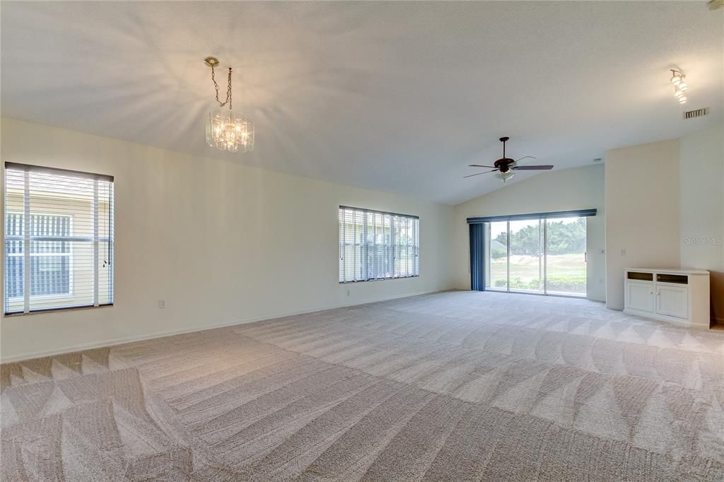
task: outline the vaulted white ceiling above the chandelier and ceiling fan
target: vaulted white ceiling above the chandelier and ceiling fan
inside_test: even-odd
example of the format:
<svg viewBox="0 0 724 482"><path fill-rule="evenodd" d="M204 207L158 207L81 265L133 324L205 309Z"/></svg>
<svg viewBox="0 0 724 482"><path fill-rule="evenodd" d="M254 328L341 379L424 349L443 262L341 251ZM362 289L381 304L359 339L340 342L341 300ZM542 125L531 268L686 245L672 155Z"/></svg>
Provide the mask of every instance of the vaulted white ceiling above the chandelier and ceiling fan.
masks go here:
<svg viewBox="0 0 724 482"><path fill-rule="evenodd" d="M721 122L724 9L706 3L4 1L2 114L459 203L502 187L463 179L502 135L565 169ZM235 68L251 153L204 142L209 55Z"/></svg>

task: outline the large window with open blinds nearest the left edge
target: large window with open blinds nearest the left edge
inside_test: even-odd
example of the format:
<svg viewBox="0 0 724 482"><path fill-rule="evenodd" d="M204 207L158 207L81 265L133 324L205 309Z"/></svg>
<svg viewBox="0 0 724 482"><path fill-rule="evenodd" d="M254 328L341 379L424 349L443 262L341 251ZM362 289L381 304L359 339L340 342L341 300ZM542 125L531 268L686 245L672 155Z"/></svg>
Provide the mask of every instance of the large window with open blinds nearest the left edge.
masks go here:
<svg viewBox="0 0 724 482"><path fill-rule="evenodd" d="M113 177L5 163L6 314L113 304Z"/></svg>

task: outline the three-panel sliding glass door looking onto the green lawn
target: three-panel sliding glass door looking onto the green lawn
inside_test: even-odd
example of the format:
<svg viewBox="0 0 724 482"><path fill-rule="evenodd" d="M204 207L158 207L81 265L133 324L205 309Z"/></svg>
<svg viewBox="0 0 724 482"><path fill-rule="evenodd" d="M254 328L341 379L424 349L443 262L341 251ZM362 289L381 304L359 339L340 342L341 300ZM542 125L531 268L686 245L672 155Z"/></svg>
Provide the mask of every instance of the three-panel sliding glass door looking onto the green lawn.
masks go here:
<svg viewBox="0 0 724 482"><path fill-rule="evenodd" d="M586 217L489 221L485 289L586 296Z"/></svg>

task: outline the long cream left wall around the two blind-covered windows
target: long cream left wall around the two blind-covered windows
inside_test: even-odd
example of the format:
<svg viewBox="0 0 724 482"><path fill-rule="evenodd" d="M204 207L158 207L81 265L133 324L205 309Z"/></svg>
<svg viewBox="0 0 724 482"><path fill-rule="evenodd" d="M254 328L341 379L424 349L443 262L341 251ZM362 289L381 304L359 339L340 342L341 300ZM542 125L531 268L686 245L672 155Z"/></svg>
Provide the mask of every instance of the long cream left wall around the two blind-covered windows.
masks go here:
<svg viewBox="0 0 724 482"><path fill-rule="evenodd" d="M4 317L2 360L453 285L452 206L12 119L1 135L2 161L113 175L116 228L115 305ZM338 284L340 205L420 216L420 276Z"/></svg>

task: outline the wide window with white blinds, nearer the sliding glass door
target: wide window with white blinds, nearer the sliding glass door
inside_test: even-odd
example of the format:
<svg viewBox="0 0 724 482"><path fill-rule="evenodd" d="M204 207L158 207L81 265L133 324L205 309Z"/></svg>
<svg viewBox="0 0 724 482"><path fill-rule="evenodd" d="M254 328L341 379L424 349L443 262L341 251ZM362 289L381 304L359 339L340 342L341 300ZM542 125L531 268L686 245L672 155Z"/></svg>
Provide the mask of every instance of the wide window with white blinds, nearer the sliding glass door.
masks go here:
<svg viewBox="0 0 724 482"><path fill-rule="evenodd" d="M340 206L340 283L420 274L417 216Z"/></svg>

